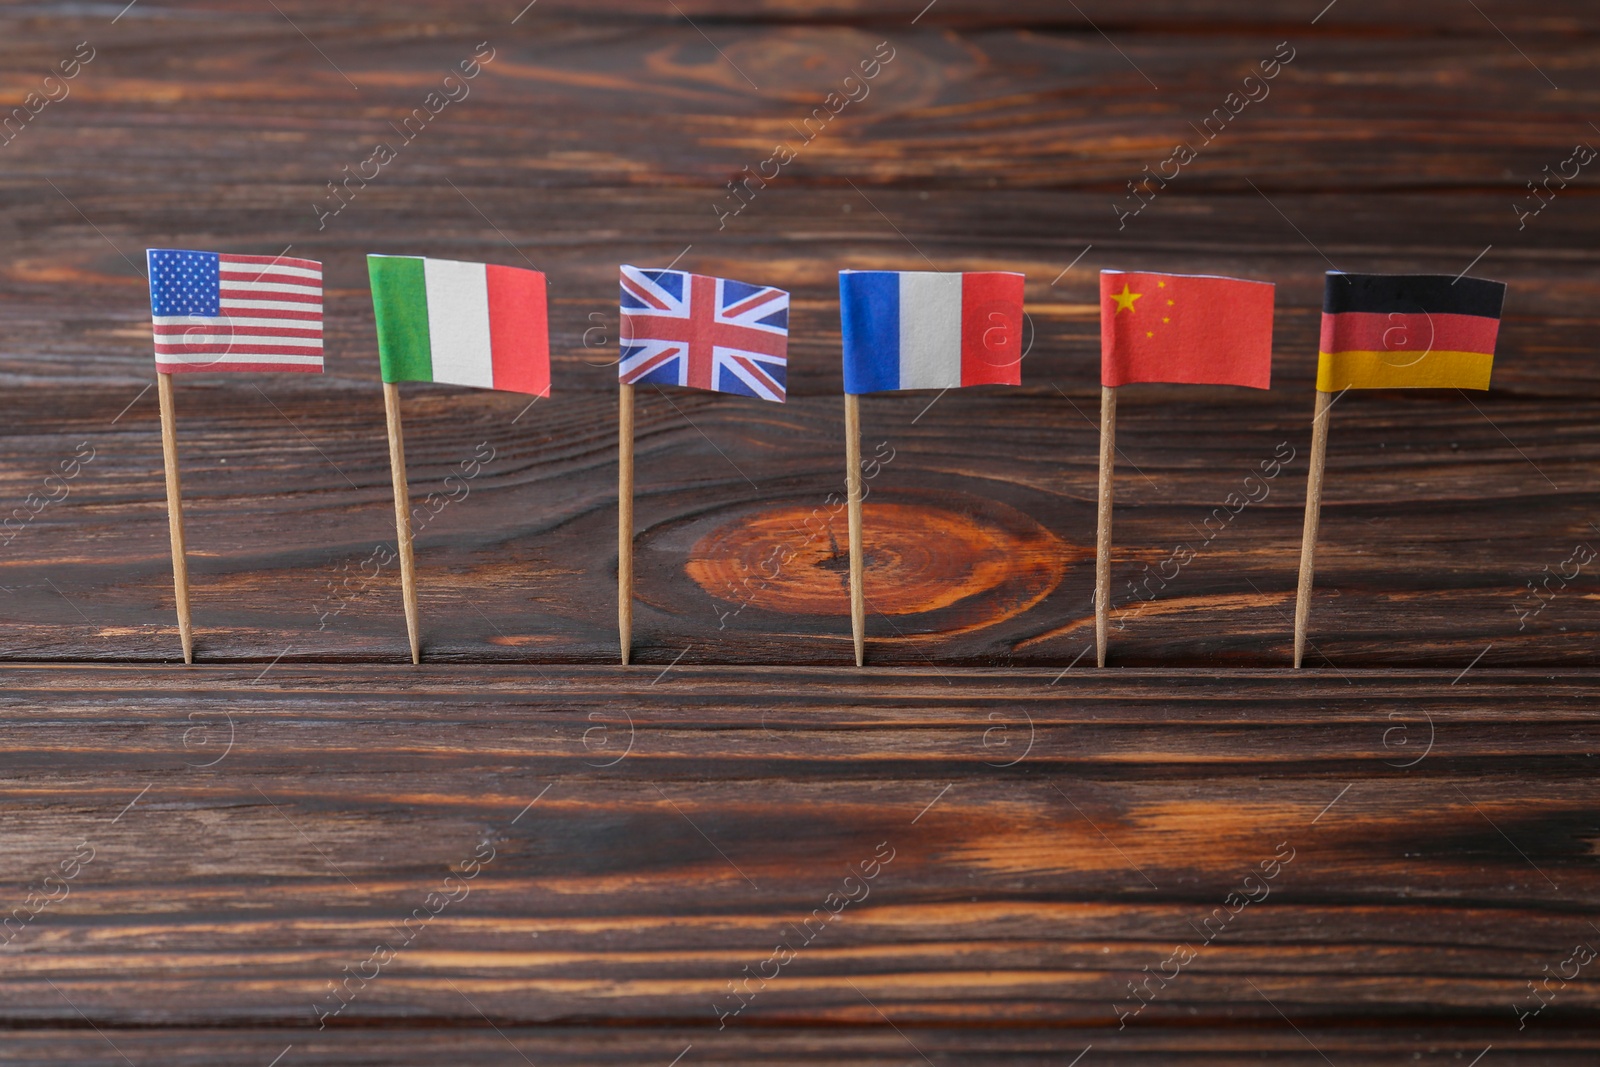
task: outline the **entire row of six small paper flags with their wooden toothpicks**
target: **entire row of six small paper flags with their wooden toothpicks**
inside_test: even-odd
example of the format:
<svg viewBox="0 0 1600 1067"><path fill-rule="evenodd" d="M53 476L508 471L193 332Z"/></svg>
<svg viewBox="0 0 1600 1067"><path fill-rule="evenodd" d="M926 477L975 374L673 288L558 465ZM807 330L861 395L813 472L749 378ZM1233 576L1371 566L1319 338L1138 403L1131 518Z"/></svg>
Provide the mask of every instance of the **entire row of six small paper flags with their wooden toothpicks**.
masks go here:
<svg viewBox="0 0 1600 1067"><path fill-rule="evenodd" d="M323 370L322 264L285 256L150 250L150 314L184 661L192 662L182 502L170 376ZM544 275L424 256L368 256L389 414L395 522L413 662L421 661L398 382L550 394ZM842 270L850 592L864 662L859 397L910 389L1019 386L1022 285L1014 272ZM1134 382L1272 382L1269 282L1102 270L1101 490L1096 649L1106 662L1115 390ZM1488 389L1506 286L1450 275L1328 272L1317 365L1312 467L1296 605L1301 665L1328 410L1347 389ZM782 403L789 293L686 270L621 267L618 629L632 622L632 394L683 386Z"/></svg>

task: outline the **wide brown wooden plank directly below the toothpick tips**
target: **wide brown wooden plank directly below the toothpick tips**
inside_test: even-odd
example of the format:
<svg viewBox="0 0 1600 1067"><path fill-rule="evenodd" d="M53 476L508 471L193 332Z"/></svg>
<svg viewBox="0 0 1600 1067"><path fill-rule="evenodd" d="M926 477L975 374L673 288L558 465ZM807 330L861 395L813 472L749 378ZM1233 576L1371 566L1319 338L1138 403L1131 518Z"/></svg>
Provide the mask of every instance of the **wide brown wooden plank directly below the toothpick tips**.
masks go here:
<svg viewBox="0 0 1600 1067"><path fill-rule="evenodd" d="M67 1024L66 993L114 1027L315 1025L325 982L482 845L338 1025L474 1022L470 1000L715 1033L726 984L789 937L736 1025L878 1025L870 1000L906 1024L1114 1027L1128 982L1190 944L1138 1029L1282 1009L1515 1033L1509 1005L1590 937L1600 888L1587 672L3 680L0 854L42 878L93 848L13 939L14 1022ZM835 891L859 899L786 933ZM1594 997L1563 985L1539 1022Z"/></svg>

